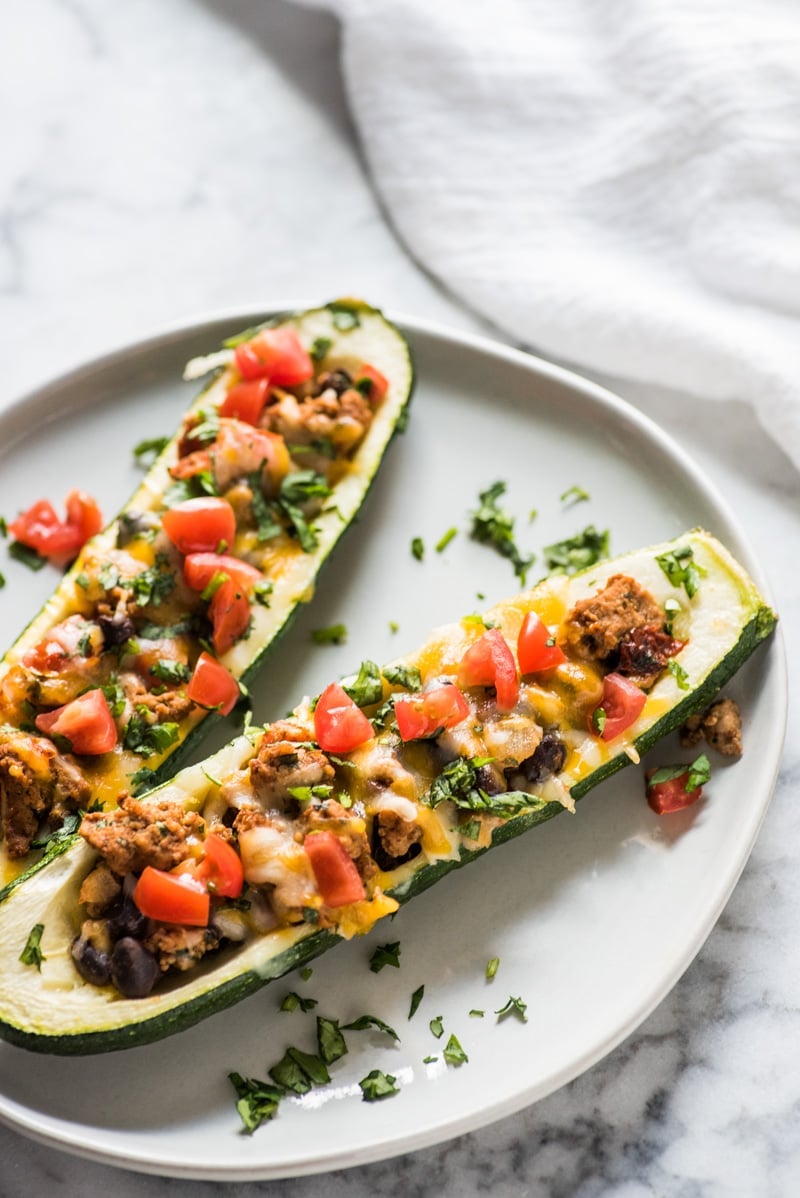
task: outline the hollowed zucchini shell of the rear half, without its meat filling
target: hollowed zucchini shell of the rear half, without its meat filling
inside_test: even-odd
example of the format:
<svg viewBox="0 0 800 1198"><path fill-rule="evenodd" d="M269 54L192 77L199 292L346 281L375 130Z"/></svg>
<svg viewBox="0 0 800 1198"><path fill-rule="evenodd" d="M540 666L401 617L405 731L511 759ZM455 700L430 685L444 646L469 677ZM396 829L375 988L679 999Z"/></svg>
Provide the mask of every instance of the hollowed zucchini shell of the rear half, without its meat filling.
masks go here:
<svg viewBox="0 0 800 1198"><path fill-rule="evenodd" d="M274 531L271 534L257 536L251 527L253 516L257 514L255 500L251 509L247 509L247 515L242 518L244 522L242 520L238 522L236 543L229 552L234 552L256 565L262 571L265 591L267 586L271 587L268 595L265 593L266 601L251 605L249 633L220 657L223 664L242 683L247 683L260 668L267 652L286 630L298 606L310 599L322 565L359 512L383 454L394 432L405 419L413 386L413 367L405 338L377 309L370 308L360 301L335 301L323 308L281 314L268 325L289 326L297 332L304 347L311 351L316 374L347 370L354 380L356 388L359 387L359 382L362 383L360 394L363 395L363 385L369 387L369 380L359 380L358 373L364 363L369 363L386 377L388 389L382 400L372 405L371 423L353 449L339 447L334 452L335 447L333 447L331 438L328 438L327 444L320 441L313 442L314 452L316 453L319 446L323 459L335 458L337 453L339 456L329 465L319 467L320 470L329 470L331 497L323 501L322 510L314 516L313 532L309 534L307 531L305 541L302 537L296 536L296 530L292 528L291 524L279 528L274 521ZM225 399L228 389L238 379L232 361L234 346L256 332L256 329L249 329L241 337L232 338L224 350L212 353L206 359L196 359L187 368L187 377L198 377L212 371L211 381L204 387L187 413L187 420L198 419L199 413L202 413L205 426L211 429L211 432L206 434L207 437L213 438L217 409ZM366 400L364 399L363 403L365 404ZM186 428L186 423L182 425L183 428ZM244 428L247 429L248 425ZM158 562L158 557L154 556L152 544L149 541L149 536L154 536L156 530L145 528L144 534L135 530L141 530L143 521L145 525L150 521L152 525L153 518L156 518L157 522L158 514L164 510L165 506L174 502L176 490L180 497L181 485L186 486L186 484L176 484L170 474L170 468L175 467L180 459L181 435L182 430L178 430L166 444L116 519L84 547L43 610L31 621L0 662L0 809L4 812L5 805L11 801L8 798L11 793L11 781L7 773L11 768L8 761L14 766L18 760L14 755L25 757L28 745L32 743L36 748L36 745L43 744L43 738L36 736L37 730L32 725L36 710L31 712L30 703L19 701L19 695L28 694L24 686L29 685L30 680L30 671L25 673L28 667L22 664L22 659L42 643L50 630L62 621L69 617L86 617L87 619L96 617L97 603L108 598L114 582L113 575L104 576L102 570L97 574L97 563L104 562L107 568L110 568L108 567L110 555L116 553L117 557L121 557L122 545L126 546L128 556L132 556L134 568L140 562L145 574L147 568L156 569L153 561ZM308 456L309 450L291 443L287 448L291 459L284 458L284 461L291 462L289 470L295 472L291 477L298 478L301 477L299 472L303 471L309 473L308 467L311 460ZM286 450L281 452L285 455ZM186 448L183 448L183 453L186 453ZM214 461L217 460L214 459ZM242 504L246 502L246 500L240 501ZM297 503L299 502L297 501ZM295 510L299 509L296 507ZM259 530L259 533L261 532L262 530ZM171 552L172 571L170 577L180 579L180 555L174 550ZM93 576L91 583L87 581L90 577L87 570L91 568L96 571L93 576L101 580L97 594L87 589L87 586L96 587ZM108 582L107 591L103 589L105 582ZM151 619L156 621L156 625L172 623L175 627L177 623L180 627L181 618L186 616L186 606L181 606L183 598L181 592L183 595L187 593L186 588L174 582L169 597L153 609L154 615ZM168 611L169 616L164 616ZM202 607L200 616L202 616ZM141 635L139 633L141 619L145 619L145 616L137 618L137 635ZM150 627L156 625L151 623ZM187 634L190 635L189 667L202 646L201 633L201 628L195 628L192 634ZM99 649L99 657L96 659L98 670L105 668L108 665L105 659L113 652L107 647ZM113 674L113 678L116 679L116 673ZM188 672L186 678L188 678ZM35 680L34 685L38 686L40 683ZM80 686L80 683L78 685ZM89 685L97 686L101 683L91 682ZM81 689L86 690L89 686L84 684ZM119 690L116 694L119 695ZM69 695L69 697L73 696ZM55 708L65 701L65 698L43 691L37 709ZM198 739L205 736L211 726L220 719L218 713L208 712L198 704L187 706L190 709L182 716L159 716L166 721L171 720L171 722L162 725L163 728L169 727L169 736L165 736L163 740L143 745L137 743L134 737L128 736L132 709L132 703L128 702L128 706L122 708L123 714L117 716L119 740L111 752L97 757L84 756L77 762L75 758L69 758L71 769L77 768L89 786L89 792L80 798L80 805L85 809L98 804L114 805L121 792L128 789L133 793L141 793L171 776L177 769L180 760L194 749ZM32 740L31 733L34 734ZM4 758L4 748L11 756ZM44 744L44 751L53 752L50 742ZM29 756L25 757L25 761L36 762L38 773L35 776L42 778L41 785L47 786L48 776L50 779L53 776L47 758L44 758L44 766L41 764L38 757ZM31 766L31 770L34 768ZM61 852L63 845L65 841L56 837L50 841L49 851L46 851L43 858L41 853L37 854L36 851L32 851L22 859L12 860L10 857L19 858L20 852L24 853L25 846L23 845L22 849L18 848L17 852L12 849L8 853L6 852L6 842L0 840L0 888L4 884L18 885L23 876L30 876L31 864L36 861L37 855L40 859L47 860Z"/></svg>

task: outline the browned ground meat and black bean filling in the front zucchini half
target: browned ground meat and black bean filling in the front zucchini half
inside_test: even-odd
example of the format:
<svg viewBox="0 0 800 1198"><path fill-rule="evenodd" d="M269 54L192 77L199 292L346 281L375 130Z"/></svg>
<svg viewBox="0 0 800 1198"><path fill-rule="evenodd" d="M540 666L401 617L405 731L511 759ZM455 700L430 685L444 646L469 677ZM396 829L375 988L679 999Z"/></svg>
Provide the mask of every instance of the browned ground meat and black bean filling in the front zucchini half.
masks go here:
<svg viewBox="0 0 800 1198"><path fill-rule="evenodd" d="M665 613L653 595L622 574L572 607L558 629L558 643L568 668L588 662L593 677L601 679L613 670L642 689L651 686L683 648L665 631ZM423 678L423 692L442 680ZM340 756L319 748L310 709L298 709L267 726L254 757L220 780L202 816L177 803L128 797L116 811L86 815L80 833L97 849L99 864L80 890L86 918L72 949L78 970L90 982L111 982L122 994L140 997L164 973L190 969L226 943L303 922L335 926L338 913L322 901L303 847L308 835L325 830L337 837L369 901L381 871L423 852L418 800L449 763L480 758L474 785L484 795L537 794L558 778L568 756L568 731L544 727L525 690L509 713L497 709L492 688L469 688L465 695L472 714L456 727L404 743L389 719L377 725L375 739ZM587 710L576 713L572 725L586 734ZM368 714L375 715L375 707ZM485 821L491 829L502 822L473 811L459 818L465 827L468 822L471 837L475 823ZM159 924L143 915L133 900L143 869L169 871L202 855L208 835L220 836L240 854L241 897L212 897L206 927Z"/></svg>

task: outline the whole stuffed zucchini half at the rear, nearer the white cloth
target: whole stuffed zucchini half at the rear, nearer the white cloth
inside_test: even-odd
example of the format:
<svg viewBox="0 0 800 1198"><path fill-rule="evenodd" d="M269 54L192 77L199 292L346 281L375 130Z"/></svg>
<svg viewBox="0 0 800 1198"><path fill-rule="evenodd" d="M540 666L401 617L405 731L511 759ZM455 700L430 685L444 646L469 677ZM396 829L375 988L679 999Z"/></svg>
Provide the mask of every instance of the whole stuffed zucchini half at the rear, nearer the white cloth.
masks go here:
<svg viewBox="0 0 800 1198"><path fill-rule="evenodd" d="M181 429L0 664L0 888L230 713L364 502L413 381L402 335L359 301L189 365L213 374Z"/></svg>

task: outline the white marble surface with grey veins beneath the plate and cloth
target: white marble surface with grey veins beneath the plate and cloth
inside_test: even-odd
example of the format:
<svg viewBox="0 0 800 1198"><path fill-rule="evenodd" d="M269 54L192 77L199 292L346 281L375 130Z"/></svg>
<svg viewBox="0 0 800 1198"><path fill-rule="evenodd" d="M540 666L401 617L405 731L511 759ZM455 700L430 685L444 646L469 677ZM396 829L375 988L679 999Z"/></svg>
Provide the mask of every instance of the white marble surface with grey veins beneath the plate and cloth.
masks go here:
<svg viewBox="0 0 800 1198"><path fill-rule="evenodd" d="M478 328L405 253L364 170L328 18L253 0L30 0L4 13L0 404L208 311L363 294ZM616 387L685 446L757 545L800 653L800 478L740 404ZM775 799L693 964L620 1047L479 1132L326 1176L225 1187L360 1196L789 1196L800 1187L800 718ZM220 1185L78 1161L0 1127L0 1194Z"/></svg>

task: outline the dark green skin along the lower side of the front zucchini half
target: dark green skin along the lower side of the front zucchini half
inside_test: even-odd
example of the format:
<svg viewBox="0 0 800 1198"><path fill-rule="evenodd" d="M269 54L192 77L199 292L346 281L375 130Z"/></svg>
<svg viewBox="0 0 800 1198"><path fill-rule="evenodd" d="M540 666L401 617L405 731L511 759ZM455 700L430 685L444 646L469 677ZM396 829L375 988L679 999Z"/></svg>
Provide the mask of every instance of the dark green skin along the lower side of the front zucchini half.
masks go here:
<svg viewBox="0 0 800 1198"><path fill-rule="evenodd" d="M685 538L677 538L677 541L681 539ZM665 546L656 547L663 549ZM593 571L594 569L587 573ZM747 598L751 607L750 616L739 628L735 643L716 661L714 667L695 689L668 708L663 715L656 719L654 724L634 740L634 745L638 752L643 754L648 751L663 736L679 727L689 715L703 710L758 645L772 633L777 617L760 600L752 583L750 583ZM570 788L571 798L576 800L581 799L593 787L631 763L631 758L624 751L618 752L593 769L583 779L575 782ZM540 800L535 810L526 811L495 828L491 843L486 847L467 849L461 845L457 858L440 859L434 863L423 864L413 869L396 887L387 889L386 893L400 904L405 904L453 870L461 869L463 865L483 857L490 848L516 839L531 828L553 818L563 810L564 806L559 803L545 803ZM0 901L4 897L5 895L0 895ZM0 907L0 919L1 916L2 909ZM0 1022L0 1037L18 1047L57 1055L86 1055L90 1053L117 1051L164 1039L247 998L268 981L302 967L335 944L341 943L341 937L335 931L314 931L313 927L309 927L308 933L301 933L301 937L290 948L266 960L262 969L257 972L247 969L240 975L232 976L216 987L196 994L180 1006L175 1006L171 1010L160 1012L152 1018L143 1019L135 1024L97 1031L87 1029L74 1034L47 1034L26 1031L13 1023ZM236 949L229 951L235 952Z"/></svg>

